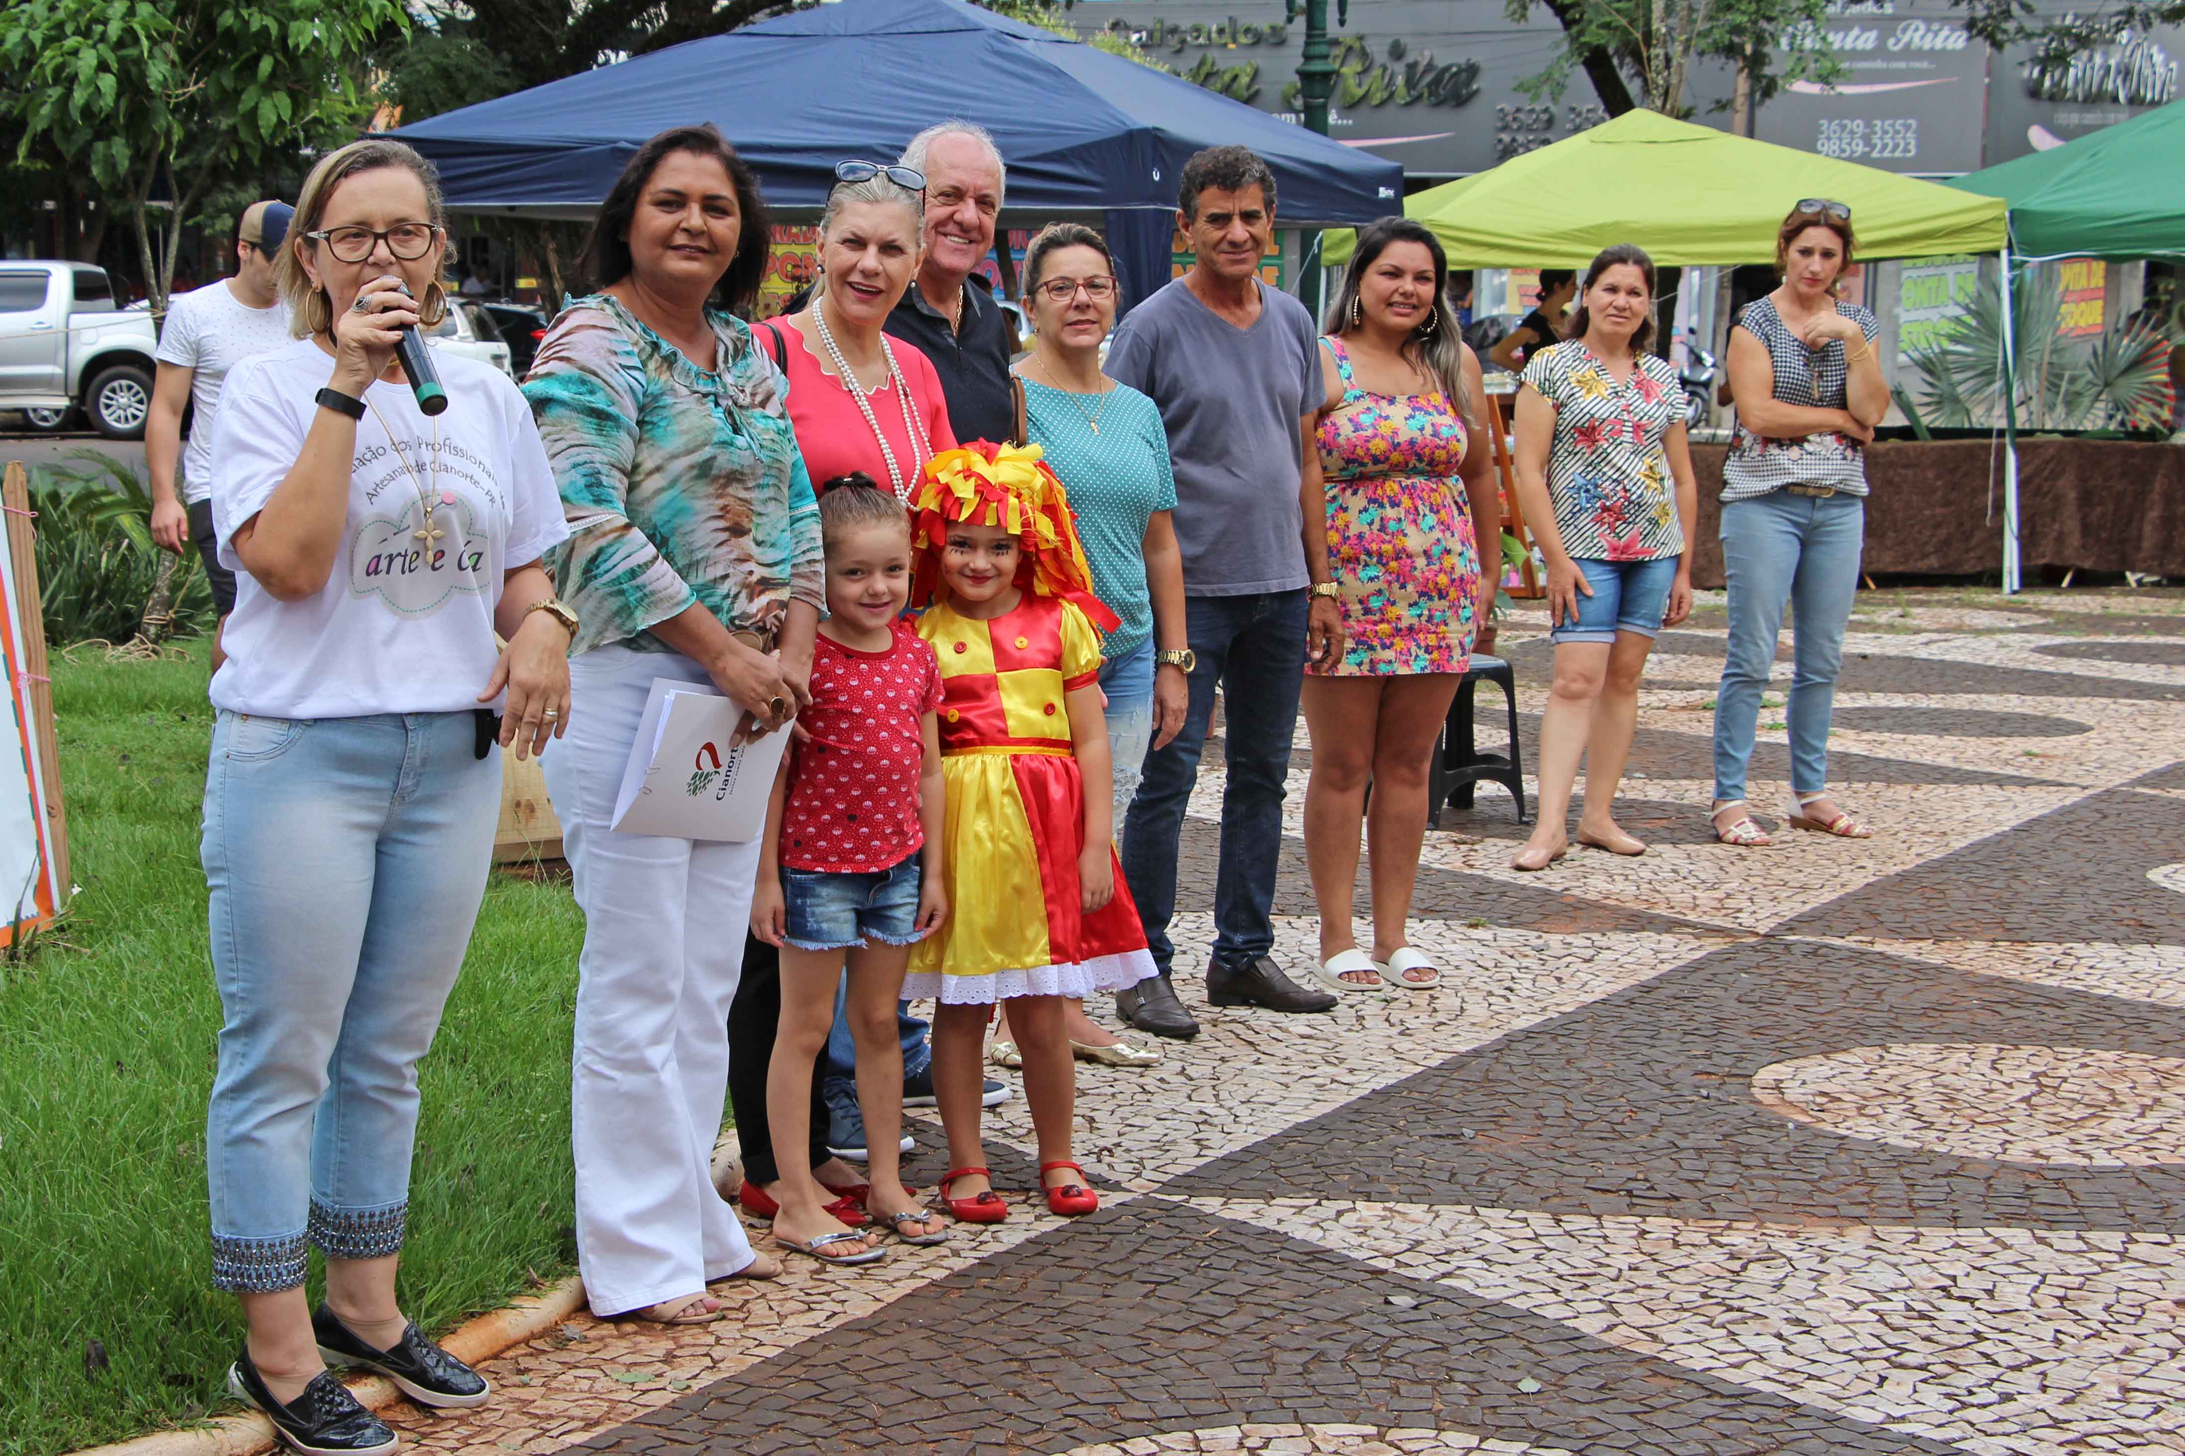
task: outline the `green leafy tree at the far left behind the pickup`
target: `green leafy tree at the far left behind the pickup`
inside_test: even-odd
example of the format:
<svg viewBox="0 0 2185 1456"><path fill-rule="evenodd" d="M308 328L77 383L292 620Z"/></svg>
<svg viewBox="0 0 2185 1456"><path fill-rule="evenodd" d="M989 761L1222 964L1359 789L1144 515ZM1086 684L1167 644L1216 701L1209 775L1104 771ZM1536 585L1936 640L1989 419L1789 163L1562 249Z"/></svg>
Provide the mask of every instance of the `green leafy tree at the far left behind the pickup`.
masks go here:
<svg viewBox="0 0 2185 1456"><path fill-rule="evenodd" d="M17 159L50 146L129 216L164 312L181 227L155 258L155 196L190 218L221 181L354 135L361 61L402 24L398 0L13 0L0 109Z"/></svg>

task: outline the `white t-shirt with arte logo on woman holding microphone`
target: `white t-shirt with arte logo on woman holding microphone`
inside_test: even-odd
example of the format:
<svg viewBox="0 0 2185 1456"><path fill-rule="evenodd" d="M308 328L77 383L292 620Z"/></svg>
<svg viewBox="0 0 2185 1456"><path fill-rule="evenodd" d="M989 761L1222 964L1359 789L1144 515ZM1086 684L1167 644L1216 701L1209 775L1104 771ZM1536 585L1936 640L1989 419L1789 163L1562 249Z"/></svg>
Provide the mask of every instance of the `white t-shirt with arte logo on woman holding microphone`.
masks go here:
<svg viewBox="0 0 2185 1456"><path fill-rule="evenodd" d="M350 517L317 596L284 602L236 559L236 528L295 467L334 360L310 338L236 365L212 439L212 526L236 611L212 703L269 718L481 707L503 572L568 537L531 406L505 373L435 349L448 408L378 380L356 421ZM391 437L389 437L391 432ZM415 467L415 476L411 474ZM428 511L426 511L428 506ZM426 520L430 524L426 524Z"/></svg>

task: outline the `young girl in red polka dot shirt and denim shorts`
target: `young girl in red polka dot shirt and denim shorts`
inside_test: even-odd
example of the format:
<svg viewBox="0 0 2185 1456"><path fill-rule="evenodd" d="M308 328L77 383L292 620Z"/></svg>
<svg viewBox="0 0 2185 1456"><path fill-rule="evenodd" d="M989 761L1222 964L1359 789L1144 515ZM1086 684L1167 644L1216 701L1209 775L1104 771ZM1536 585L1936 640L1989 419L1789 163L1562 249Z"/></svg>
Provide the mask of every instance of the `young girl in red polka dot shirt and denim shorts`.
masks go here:
<svg viewBox="0 0 2185 1456"><path fill-rule="evenodd" d="M835 1022L848 958L857 1100L872 1150L865 1207L887 1227L937 1244L946 1225L902 1185L902 1043L896 1002L911 945L948 915L942 873L942 751L933 648L902 618L911 522L891 493L852 478L819 498L826 605L813 653L811 707L782 762L752 895L752 932L782 947L782 1019L767 1067L767 1124L780 1166L773 1238L828 1264L883 1257L826 1212L813 1177L813 1061Z"/></svg>

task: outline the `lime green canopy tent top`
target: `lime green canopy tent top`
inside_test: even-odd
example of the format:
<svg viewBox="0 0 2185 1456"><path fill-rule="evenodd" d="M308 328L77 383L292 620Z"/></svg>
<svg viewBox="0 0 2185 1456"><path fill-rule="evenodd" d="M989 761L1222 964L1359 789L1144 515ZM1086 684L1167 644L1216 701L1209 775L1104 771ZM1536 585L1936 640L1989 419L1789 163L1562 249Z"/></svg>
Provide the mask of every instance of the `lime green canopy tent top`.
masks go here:
<svg viewBox="0 0 2185 1456"><path fill-rule="evenodd" d="M1663 266L1774 262L1798 199L1851 205L1862 258L1995 253L2004 203L1855 162L1626 111L1575 138L1403 199L1453 268L1584 268L1610 242ZM1326 234L1342 264L1357 234Z"/></svg>

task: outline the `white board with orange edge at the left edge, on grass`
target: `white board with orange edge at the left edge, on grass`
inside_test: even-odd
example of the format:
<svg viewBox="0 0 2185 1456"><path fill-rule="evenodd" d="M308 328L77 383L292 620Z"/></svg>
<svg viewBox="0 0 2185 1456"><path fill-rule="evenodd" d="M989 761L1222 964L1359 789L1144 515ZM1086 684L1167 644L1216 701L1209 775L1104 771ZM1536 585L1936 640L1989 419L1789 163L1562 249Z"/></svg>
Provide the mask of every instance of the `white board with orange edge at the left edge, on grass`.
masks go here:
<svg viewBox="0 0 2185 1456"><path fill-rule="evenodd" d="M44 926L59 912L70 878L37 530L31 478L20 461L9 461L0 478L0 506L7 506L9 546L0 552L0 670L11 707L0 714L0 945L7 945L17 928Z"/></svg>

